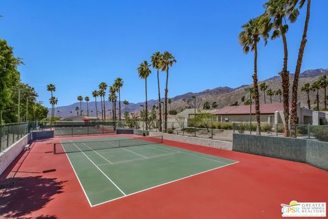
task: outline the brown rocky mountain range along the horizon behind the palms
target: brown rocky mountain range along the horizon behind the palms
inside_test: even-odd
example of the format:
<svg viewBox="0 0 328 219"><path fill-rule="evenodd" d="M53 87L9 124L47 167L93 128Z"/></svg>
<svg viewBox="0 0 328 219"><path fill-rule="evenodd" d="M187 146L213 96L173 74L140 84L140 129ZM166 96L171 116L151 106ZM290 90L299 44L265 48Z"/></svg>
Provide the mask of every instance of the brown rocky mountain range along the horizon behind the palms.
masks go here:
<svg viewBox="0 0 328 219"><path fill-rule="evenodd" d="M318 68L314 70L305 70L303 73L301 73L300 78L299 78L299 92L298 92L298 99L301 101L301 105L306 107L307 106L307 96L305 92L301 92L301 87L305 83L313 83L314 81L318 80L318 78L321 75L328 75L328 68ZM291 86L292 86L292 81L294 79L294 75L290 74L290 91L291 91ZM271 77L269 79L266 79L264 81L260 81L260 83L265 82L269 86L268 89L271 90L277 90L277 89L282 89L281 88L281 77L280 76L275 76ZM238 103L238 105L243 105L244 103L241 101L242 97L245 97L245 100L249 99L249 92L245 91L245 88L252 86L251 84L249 85L241 85L238 88L229 88L229 87L219 87L219 88L214 88L214 89L208 89L204 90L202 92L188 92L185 94L181 94L178 96L171 97L171 106L168 106L170 109L174 109L177 112L180 112L184 110L185 108L190 108L193 107L193 99L191 96L196 96L196 106L197 107L202 107L202 103L205 101L209 101L210 103L213 103L214 101L217 103L217 109L225 107L227 105L232 105L234 103ZM319 95L321 96L320 99L323 99L323 89L320 89ZM316 93L315 92L310 92L310 99L312 105L314 105L314 99L316 98ZM270 103L270 97L267 96L267 103ZM279 101L279 96L272 96L272 102L276 103ZM263 92L260 91L260 103L264 103L264 94ZM82 109L83 109L83 114L86 114L87 112L87 103L82 102ZM142 110L142 107L140 105L144 105L144 102L141 103L130 103L128 106L125 106L123 102L121 102L121 107L122 107L122 114L123 112L137 112L139 110ZM158 100L149 100L148 101L148 106L151 107L152 105L157 105ZM98 111L100 111L100 102L97 102L98 105ZM323 105L323 103L320 103L320 105ZM66 106L60 106L60 107L55 107L55 116L59 116L61 118L64 118L66 116L72 116L76 115L77 112L75 111L75 108L79 107L79 103L72 103L71 105L66 105ZM107 111L107 115L109 115L109 109L111 109L111 103L109 101L105 101L105 107ZM118 107L118 103L117 103ZM49 114L48 116L51 116L50 113L51 109L49 109ZM89 112L90 116L96 116L96 107L94 101L89 102Z"/></svg>

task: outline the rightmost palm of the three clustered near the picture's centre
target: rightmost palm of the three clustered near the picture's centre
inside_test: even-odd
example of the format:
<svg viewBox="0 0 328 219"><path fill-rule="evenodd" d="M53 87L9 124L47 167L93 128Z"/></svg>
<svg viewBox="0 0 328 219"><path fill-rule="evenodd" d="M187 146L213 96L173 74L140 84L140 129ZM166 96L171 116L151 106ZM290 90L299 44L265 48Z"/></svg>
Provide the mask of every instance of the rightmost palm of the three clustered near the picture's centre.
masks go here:
<svg viewBox="0 0 328 219"><path fill-rule="evenodd" d="M174 63L176 63L176 59L174 58L174 56L168 51L165 51L161 59L162 71L166 70L164 132L167 131L167 93L169 92L167 88L169 83L169 67L172 66Z"/></svg>

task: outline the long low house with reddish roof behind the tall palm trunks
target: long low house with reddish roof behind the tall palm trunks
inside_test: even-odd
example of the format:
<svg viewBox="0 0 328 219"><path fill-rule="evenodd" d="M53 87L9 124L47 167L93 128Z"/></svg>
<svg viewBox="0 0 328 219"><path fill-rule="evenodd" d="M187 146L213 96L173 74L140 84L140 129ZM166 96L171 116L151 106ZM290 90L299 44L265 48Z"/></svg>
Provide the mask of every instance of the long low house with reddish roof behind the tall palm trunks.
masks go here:
<svg viewBox="0 0 328 219"><path fill-rule="evenodd" d="M256 122L254 104L223 107L213 114L216 116L218 122L244 123L250 120ZM324 112L305 109L301 107L300 103L297 103L297 116L300 125L325 125L327 123ZM262 123L284 123L283 103L260 104L260 120Z"/></svg>

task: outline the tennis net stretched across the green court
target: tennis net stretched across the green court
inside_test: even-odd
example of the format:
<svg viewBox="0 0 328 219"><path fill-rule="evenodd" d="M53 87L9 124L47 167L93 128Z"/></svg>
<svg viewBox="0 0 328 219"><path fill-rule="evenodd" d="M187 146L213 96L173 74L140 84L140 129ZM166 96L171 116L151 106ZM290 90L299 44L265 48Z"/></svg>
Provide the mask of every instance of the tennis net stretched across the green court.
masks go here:
<svg viewBox="0 0 328 219"><path fill-rule="evenodd" d="M53 144L53 153L74 153L81 151L98 151L103 149L114 149L126 146L143 146L147 144L161 144L163 136L146 136L120 140L70 140Z"/></svg>

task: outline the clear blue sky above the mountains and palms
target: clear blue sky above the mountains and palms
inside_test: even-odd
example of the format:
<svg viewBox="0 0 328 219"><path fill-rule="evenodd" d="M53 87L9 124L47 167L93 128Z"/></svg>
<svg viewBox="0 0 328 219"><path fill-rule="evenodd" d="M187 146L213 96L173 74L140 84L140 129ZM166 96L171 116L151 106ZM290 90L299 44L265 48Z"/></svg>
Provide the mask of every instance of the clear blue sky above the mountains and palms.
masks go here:
<svg viewBox="0 0 328 219"><path fill-rule="evenodd" d="M232 3L233 2L233 3ZM19 70L49 105L46 84L57 87L60 105L92 96L98 83L124 79L122 100L144 101L137 66L155 51L178 61L170 71L169 96L219 86L251 83L253 54L238 44L241 25L262 14L265 1L0 1L0 38L8 40L25 65ZM302 70L328 68L327 0L312 1ZM294 72L305 8L287 35L290 72ZM282 68L282 40L259 47L258 75L267 79ZM156 99L156 72L148 80ZM162 94L165 74L161 73Z"/></svg>

